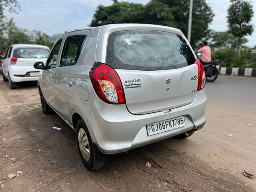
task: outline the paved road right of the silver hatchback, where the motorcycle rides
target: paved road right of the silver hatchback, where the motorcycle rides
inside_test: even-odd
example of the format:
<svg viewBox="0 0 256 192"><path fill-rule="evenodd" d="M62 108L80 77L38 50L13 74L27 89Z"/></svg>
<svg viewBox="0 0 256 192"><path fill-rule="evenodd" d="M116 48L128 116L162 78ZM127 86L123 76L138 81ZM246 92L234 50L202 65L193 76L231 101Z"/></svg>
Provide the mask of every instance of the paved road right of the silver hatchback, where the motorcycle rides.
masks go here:
<svg viewBox="0 0 256 192"><path fill-rule="evenodd" d="M256 175L256 78L220 76L207 83L206 93L206 126L189 142L165 144L226 170L256 190L256 179L242 174L245 169Z"/></svg>

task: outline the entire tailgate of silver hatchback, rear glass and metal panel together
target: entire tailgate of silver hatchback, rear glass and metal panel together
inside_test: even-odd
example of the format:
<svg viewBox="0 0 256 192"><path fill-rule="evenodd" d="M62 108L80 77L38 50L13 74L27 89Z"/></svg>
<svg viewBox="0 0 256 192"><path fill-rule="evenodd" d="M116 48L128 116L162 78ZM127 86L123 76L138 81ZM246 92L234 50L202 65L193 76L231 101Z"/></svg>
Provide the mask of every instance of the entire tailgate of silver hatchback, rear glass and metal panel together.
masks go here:
<svg viewBox="0 0 256 192"><path fill-rule="evenodd" d="M171 110L192 103L198 90L198 65L178 34L150 30L114 32L106 64L114 68L133 114Z"/></svg>

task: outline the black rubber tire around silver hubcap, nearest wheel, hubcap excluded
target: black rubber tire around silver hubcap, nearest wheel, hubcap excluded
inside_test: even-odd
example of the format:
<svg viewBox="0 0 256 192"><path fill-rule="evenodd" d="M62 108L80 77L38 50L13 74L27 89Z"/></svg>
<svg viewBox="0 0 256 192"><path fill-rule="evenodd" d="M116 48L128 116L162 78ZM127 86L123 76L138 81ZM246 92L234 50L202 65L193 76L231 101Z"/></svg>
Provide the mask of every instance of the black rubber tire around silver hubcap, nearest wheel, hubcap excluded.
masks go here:
<svg viewBox="0 0 256 192"><path fill-rule="evenodd" d="M80 147L79 147L78 132L80 131L80 129L83 129L85 131L88 142L89 142L89 145L88 145L89 150L90 150L89 160L85 160L85 158L83 157L82 152L80 150ZM82 162L88 170L90 170L90 171L97 170L105 164L105 160L100 158L100 156L102 155L102 152L100 152L100 150L97 148L97 146L92 142L92 138L90 136L88 128L87 128L84 120L82 120L82 119L78 120L78 122L76 124L76 142L77 142L77 147L78 147L78 151L79 151L80 157L82 159Z"/></svg>

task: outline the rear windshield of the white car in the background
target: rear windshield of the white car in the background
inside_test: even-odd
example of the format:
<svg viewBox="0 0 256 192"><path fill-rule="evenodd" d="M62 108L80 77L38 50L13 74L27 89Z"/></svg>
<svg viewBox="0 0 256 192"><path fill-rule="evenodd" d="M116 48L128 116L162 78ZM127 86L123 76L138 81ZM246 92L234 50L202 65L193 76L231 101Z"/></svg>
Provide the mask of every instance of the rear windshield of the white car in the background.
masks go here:
<svg viewBox="0 0 256 192"><path fill-rule="evenodd" d="M18 48L14 49L16 58L48 58L50 51L42 48Z"/></svg>

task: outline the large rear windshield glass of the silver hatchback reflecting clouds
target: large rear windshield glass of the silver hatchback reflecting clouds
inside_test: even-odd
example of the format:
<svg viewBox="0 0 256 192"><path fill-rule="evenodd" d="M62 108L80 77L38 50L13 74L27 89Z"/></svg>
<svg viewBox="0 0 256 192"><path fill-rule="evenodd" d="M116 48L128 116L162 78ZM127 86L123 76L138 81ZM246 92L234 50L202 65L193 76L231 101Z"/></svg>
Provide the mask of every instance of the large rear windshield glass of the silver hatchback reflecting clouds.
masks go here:
<svg viewBox="0 0 256 192"><path fill-rule="evenodd" d="M114 32L108 38L106 64L116 69L167 70L194 64L182 36L160 31Z"/></svg>

